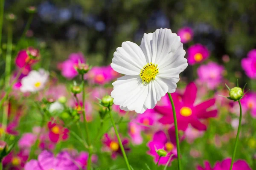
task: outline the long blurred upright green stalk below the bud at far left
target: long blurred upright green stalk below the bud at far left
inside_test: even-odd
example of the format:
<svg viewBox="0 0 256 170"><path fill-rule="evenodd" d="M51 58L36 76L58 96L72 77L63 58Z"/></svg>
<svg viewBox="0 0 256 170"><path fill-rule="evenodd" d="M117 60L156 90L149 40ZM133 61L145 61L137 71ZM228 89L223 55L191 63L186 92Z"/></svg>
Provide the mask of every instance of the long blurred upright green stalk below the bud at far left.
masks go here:
<svg viewBox="0 0 256 170"><path fill-rule="evenodd" d="M5 66L5 88L10 86L11 77L11 65L12 65L12 23L9 23L8 35L7 35L7 51L6 51L6 66ZM3 107L3 129L6 129L7 119L9 111L9 101ZM5 133L3 133L2 139L5 138Z"/></svg>

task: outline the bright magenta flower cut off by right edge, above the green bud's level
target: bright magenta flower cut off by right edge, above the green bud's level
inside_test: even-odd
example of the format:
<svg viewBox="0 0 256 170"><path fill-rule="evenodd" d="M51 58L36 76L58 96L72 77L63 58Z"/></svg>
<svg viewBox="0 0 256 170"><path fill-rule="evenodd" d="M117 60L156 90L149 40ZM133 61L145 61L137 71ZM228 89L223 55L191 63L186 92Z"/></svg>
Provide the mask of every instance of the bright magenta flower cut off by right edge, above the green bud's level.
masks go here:
<svg viewBox="0 0 256 170"><path fill-rule="evenodd" d="M247 58L241 60L245 74L251 79L256 79L256 49L249 51Z"/></svg>

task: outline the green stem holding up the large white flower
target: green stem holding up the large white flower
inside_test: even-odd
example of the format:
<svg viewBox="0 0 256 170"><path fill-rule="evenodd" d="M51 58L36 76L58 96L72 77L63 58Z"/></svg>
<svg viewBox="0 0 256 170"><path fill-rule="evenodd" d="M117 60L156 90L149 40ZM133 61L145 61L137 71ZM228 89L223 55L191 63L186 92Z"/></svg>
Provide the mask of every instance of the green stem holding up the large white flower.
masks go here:
<svg viewBox="0 0 256 170"><path fill-rule="evenodd" d="M179 141L179 132L178 132L178 125L177 125L177 117L176 117L176 111L175 106L172 100L171 94L168 93L169 99L172 104L172 113L173 113L173 119L174 119L174 126L175 126L175 136L176 136L176 147L177 147L177 157L178 157L178 170L181 170L181 160L180 160L180 141Z"/></svg>

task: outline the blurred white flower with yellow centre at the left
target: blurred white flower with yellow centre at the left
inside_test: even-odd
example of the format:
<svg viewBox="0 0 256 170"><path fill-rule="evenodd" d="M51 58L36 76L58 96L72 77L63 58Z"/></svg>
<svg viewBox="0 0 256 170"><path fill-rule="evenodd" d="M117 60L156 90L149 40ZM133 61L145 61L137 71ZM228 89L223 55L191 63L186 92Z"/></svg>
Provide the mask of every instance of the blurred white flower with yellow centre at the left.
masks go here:
<svg viewBox="0 0 256 170"><path fill-rule="evenodd" d="M49 77L49 73L40 68L39 71L32 70L26 77L21 79L20 91L36 92L44 88Z"/></svg>

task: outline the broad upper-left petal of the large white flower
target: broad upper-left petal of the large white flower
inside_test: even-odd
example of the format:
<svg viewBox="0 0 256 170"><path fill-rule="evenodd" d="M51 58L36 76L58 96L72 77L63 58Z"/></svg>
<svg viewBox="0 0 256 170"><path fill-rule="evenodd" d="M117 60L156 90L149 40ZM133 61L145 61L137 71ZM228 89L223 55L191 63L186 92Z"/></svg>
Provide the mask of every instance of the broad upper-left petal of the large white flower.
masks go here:
<svg viewBox="0 0 256 170"><path fill-rule="evenodd" d="M146 64L141 48L133 42L126 41L122 43L122 47L116 49L111 67L121 74L139 75Z"/></svg>

